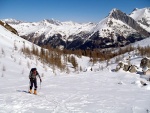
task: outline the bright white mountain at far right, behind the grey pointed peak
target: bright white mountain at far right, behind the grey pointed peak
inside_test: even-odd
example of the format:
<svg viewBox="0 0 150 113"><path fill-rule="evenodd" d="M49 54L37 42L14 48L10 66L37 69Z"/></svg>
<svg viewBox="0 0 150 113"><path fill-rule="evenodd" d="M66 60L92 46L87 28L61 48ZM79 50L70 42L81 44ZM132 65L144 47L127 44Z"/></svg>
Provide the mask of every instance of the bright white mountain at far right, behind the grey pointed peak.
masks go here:
<svg viewBox="0 0 150 113"><path fill-rule="evenodd" d="M137 21L141 27L150 32L150 8L136 8L130 14L130 17Z"/></svg>

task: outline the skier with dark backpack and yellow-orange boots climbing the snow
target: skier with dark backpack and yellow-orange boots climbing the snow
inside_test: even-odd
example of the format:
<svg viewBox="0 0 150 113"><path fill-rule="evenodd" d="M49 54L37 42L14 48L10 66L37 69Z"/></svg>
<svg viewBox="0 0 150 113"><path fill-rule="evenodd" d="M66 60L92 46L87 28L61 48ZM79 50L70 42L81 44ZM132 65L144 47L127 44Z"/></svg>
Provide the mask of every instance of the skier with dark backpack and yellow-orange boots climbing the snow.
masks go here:
<svg viewBox="0 0 150 113"><path fill-rule="evenodd" d="M36 77L39 77L40 79L40 82L42 82L42 79L39 75L39 73L37 72L36 68L32 68L31 71L30 71L30 74L29 74L29 79L30 79L30 90L29 90L29 93L32 93L32 87L33 87L33 84L34 84L34 93L35 95L37 95L37 79Z"/></svg>

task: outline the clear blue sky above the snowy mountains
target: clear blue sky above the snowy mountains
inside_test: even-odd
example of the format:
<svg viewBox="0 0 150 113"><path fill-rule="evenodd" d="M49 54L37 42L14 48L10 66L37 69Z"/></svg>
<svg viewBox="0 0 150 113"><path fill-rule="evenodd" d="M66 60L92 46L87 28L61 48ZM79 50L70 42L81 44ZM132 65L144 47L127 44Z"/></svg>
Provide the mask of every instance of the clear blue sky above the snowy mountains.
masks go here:
<svg viewBox="0 0 150 113"><path fill-rule="evenodd" d="M0 19L97 23L113 8L129 14L134 8L144 7L150 7L150 0L0 0Z"/></svg>

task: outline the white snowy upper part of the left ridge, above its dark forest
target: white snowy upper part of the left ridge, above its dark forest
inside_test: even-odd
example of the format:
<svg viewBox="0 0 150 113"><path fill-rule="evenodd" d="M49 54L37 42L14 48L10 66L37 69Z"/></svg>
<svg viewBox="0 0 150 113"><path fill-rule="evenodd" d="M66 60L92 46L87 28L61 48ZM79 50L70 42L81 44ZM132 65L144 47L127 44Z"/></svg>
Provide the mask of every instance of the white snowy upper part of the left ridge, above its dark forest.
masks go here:
<svg viewBox="0 0 150 113"><path fill-rule="evenodd" d="M60 34L64 41L70 35L76 35L80 32L89 32L94 26L94 23L75 23L72 21L59 22L57 20L42 20L40 22L21 22L14 19L3 20L17 29L20 36L34 34L33 38L44 35L45 39L56 34Z"/></svg>

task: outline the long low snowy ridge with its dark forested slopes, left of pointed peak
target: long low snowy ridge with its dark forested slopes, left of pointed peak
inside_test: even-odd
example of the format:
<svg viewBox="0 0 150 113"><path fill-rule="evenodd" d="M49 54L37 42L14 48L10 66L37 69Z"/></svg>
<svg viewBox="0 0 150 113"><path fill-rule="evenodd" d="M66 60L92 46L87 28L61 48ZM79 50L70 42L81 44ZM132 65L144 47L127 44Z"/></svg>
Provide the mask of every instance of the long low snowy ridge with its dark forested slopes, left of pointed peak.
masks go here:
<svg viewBox="0 0 150 113"><path fill-rule="evenodd" d="M67 48L67 42L75 40L80 34L87 34L95 27L94 23L75 23L72 21L42 20L40 22L21 22L13 19L3 20L13 26L19 36L37 45L52 45ZM14 22L13 22L14 21Z"/></svg>

